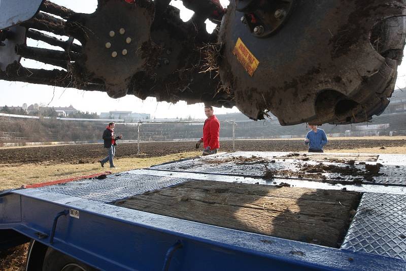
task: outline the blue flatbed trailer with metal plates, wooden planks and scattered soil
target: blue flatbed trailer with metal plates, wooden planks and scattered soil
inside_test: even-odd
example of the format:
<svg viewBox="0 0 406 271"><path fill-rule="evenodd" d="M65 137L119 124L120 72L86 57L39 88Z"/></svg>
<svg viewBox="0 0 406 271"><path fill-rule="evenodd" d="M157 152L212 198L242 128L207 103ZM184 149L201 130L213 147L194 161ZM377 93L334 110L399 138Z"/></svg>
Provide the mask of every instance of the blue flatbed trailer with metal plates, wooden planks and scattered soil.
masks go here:
<svg viewBox="0 0 406 271"><path fill-rule="evenodd" d="M27 270L403 271L405 173L405 155L236 152L8 190L0 249L30 242Z"/></svg>

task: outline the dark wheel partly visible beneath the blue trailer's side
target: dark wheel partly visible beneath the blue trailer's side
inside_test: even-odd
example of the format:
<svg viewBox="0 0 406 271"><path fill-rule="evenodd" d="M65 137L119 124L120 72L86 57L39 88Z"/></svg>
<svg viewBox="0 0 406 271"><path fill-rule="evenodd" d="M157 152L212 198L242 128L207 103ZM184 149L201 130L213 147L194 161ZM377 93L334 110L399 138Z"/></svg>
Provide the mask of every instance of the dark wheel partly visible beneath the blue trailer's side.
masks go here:
<svg viewBox="0 0 406 271"><path fill-rule="evenodd" d="M52 248L45 254L43 271L95 271L97 269Z"/></svg>

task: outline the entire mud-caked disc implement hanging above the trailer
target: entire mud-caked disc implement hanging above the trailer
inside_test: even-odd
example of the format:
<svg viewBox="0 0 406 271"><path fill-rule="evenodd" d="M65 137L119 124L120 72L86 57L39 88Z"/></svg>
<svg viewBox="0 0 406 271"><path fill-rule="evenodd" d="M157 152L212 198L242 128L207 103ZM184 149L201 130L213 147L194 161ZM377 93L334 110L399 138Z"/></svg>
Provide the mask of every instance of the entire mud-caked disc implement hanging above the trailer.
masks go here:
<svg viewBox="0 0 406 271"><path fill-rule="evenodd" d="M406 37L403 0L231 0L226 10L183 0L195 12L188 22L170 2L98 0L82 14L2 1L0 79L236 105L282 125L365 122L388 104ZM219 26L213 34L207 18ZM27 69L21 57L60 68Z"/></svg>

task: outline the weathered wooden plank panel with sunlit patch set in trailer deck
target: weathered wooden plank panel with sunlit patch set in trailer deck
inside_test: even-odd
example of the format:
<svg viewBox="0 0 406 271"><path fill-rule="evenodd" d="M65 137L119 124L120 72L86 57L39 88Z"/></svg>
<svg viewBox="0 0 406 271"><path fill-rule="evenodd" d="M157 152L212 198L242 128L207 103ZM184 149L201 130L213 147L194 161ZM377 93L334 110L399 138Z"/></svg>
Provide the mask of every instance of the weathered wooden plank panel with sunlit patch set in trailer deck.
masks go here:
<svg viewBox="0 0 406 271"><path fill-rule="evenodd" d="M192 180L115 204L174 218L339 247L358 206L350 191Z"/></svg>

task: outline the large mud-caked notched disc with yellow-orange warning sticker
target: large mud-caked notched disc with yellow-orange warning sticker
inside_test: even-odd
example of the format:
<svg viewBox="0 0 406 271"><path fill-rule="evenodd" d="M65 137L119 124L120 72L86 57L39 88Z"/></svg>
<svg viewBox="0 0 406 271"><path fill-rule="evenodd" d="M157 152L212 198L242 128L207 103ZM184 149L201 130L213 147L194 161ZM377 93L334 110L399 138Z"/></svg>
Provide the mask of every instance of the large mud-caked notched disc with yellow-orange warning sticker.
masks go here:
<svg viewBox="0 0 406 271"><path fill-rule="evenodd" d="M368 121L388 105L405 41L405 1L235 0L220 75L251 118L282 125Z"/></svg>

